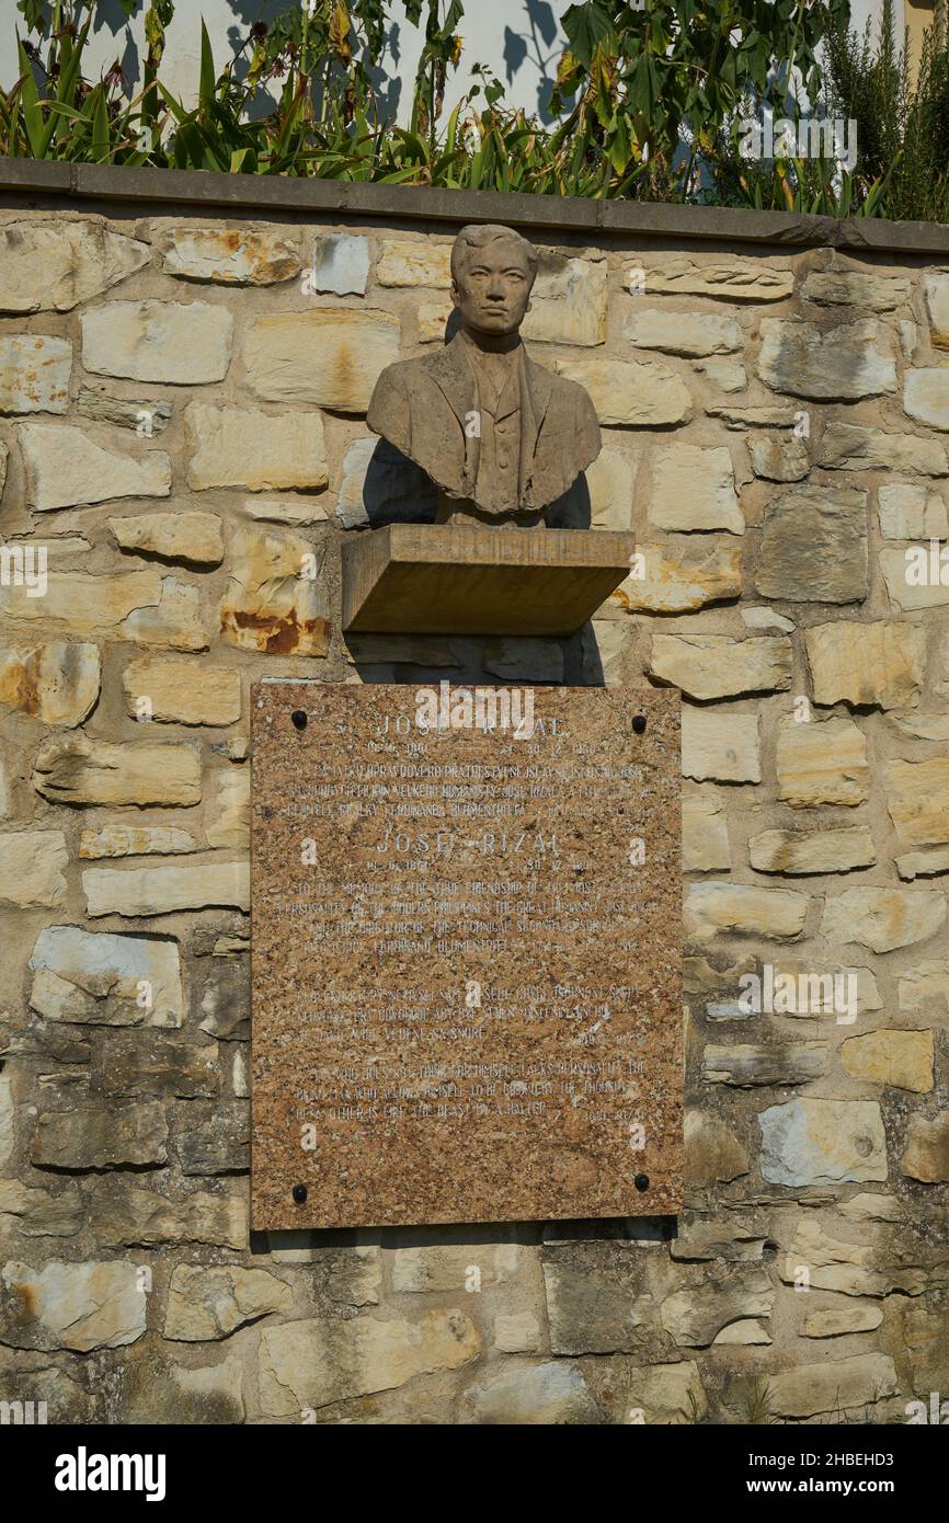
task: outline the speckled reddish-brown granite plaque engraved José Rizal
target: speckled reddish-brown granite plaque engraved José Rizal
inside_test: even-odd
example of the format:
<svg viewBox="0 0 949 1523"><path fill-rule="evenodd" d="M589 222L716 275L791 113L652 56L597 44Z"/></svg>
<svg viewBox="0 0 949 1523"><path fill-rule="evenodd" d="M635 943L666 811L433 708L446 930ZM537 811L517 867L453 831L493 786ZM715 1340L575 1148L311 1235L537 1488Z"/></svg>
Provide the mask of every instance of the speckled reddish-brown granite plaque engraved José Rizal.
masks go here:
<svg viewBox="0 0 949 1523"><path fill-rule="evenodd" d="M251 708L251 1224L678 1212L678 694Z"/></svg>

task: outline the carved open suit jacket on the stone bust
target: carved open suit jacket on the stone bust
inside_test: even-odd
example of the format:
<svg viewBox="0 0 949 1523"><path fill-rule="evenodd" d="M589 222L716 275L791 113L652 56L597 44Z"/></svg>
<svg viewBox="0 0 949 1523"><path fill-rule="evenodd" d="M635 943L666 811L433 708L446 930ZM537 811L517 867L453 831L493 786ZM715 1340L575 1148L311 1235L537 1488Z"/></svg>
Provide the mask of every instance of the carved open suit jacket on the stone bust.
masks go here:
<svg viewBox="0 0 949 1523"><path fill-rule="evenodd" d="M478 503L480 440L466 419L478 413L475 375L462 332L431 358L388 366L369 404L367 423L414 460L448 496ZM535 366L522 352L527 407L521 407L519 510L538 512L567 492L600 452L593 402L574 381Z"/></svg>

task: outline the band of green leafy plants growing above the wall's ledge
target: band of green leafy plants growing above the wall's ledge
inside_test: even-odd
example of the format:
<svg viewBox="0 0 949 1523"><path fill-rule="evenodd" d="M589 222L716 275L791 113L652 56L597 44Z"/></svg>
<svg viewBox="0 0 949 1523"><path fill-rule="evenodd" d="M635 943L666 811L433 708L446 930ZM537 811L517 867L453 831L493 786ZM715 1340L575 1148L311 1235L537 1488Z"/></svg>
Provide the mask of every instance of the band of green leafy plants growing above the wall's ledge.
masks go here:
<svg viewBox="0 0 949 1523"><path fill-rule="evenodd" d="M848 0L582 0L562 18L553 126L512 110L478 64L445 119L463 0L405 0L408 21L425 29L408 126L373 87L388 0L299 0L253 23L224 64L201 24L187 105L161 78L174 0L120 5L126 17L143 8L139 93L117 62L97 81L82 72L96 0L18 0L26 35L20 78L0 94L0 154L949 219L946 0L915 82L893 0L876 52L868 34L850 32ZM853 171L826 157L740 155L748 117L800 114L798 99L856 120Z"/></svg>

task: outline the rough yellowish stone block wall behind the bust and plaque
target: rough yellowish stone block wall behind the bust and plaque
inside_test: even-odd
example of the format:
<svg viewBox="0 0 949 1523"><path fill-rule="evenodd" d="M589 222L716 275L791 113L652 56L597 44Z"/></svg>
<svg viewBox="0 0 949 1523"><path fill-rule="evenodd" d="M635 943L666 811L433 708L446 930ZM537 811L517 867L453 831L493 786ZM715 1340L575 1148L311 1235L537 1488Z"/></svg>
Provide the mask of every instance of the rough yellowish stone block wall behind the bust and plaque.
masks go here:
<svg viewBox="0 0 949 1523"><path fill-rule="evenodd" d="M590 388L594 525L646 574L568 641L346 640L341 542L407 507L366 483L369 394L449 311L457 224L401 195L388 221L388 189L344 221L0 198L0 1398L905 1421L949 1395L949 250L538 228L532 352ZM248 1238L262 676L681 688L676 1238ZM768 1001L844 969L853 1020L816 985L739 1002L749 970Z"/></svg>

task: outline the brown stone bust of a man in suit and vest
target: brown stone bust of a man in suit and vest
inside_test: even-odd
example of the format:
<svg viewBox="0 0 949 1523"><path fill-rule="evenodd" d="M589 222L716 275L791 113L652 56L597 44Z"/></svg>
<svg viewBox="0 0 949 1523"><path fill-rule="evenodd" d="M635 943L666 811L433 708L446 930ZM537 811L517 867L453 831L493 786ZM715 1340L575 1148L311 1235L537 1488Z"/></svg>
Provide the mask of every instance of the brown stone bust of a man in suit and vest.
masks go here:
<svg viewBox="0 0 949 1523"><path fill-rule="evenodd" d="M436 522L533 527L600 452L590 396L529 358L519 327L538 257L498 224L451 250L460 327L439 353L379 376L367 422L439 489Z"/></svg>

